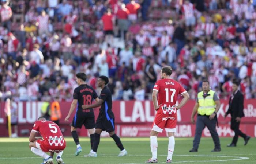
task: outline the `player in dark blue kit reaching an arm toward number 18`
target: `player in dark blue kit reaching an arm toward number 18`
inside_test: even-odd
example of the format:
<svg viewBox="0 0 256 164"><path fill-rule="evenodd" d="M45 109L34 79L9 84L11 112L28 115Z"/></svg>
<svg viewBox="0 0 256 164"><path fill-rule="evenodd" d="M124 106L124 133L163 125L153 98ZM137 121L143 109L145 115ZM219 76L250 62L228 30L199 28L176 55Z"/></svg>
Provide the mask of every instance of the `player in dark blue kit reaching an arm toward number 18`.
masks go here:
<svg viewBox="0 0 256 164"><path fill-rule="evenodd" d="M127 155L127 151L124 149L120 138L115 133L114 113L112 112L112 95L111 91L106 86L108 82L108 77L100 76L97 80L98 87L102 89L99 96L99 101L91 105L82 105L83 109L96 108L101 106L99 109L99 116L96 121L93 151L88 155L84 155L84 157L97 157L97 149L102 131L108 132L109 136L116 142L117 147L120 149L120 153L118 155L119 157Z"/></svg>

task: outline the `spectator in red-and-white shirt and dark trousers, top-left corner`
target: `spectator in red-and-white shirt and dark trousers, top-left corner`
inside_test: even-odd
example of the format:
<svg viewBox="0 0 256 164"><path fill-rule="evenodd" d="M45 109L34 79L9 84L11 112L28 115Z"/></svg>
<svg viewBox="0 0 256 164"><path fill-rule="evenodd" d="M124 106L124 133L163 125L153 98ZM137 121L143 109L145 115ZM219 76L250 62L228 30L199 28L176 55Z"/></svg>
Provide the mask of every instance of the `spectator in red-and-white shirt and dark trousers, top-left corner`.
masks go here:
<svg viewBox="0 0 256 164"><path fill-rule="evenodd" d="M1 0L0 16L1 16L1 26L7 28L8 32L11 31L11 17L12 9L8 6L9 1Z"/></svg>

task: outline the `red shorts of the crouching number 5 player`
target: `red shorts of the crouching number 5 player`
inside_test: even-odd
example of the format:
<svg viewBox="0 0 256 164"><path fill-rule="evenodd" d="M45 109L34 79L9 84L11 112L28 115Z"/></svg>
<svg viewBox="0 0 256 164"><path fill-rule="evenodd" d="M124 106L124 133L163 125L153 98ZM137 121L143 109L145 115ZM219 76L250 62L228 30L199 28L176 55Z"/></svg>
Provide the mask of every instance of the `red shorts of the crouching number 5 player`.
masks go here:
<svg viewBox="0 0 256 164"><path fill-rule="evenodd" d="M57 141L56 141L57 142ZM51 143L52 144L52 143ZM57 144L50 145L49 140L37 140L35 142L36 147L43 152L62 152L66 147L66 141L59 141Z"/></svg>

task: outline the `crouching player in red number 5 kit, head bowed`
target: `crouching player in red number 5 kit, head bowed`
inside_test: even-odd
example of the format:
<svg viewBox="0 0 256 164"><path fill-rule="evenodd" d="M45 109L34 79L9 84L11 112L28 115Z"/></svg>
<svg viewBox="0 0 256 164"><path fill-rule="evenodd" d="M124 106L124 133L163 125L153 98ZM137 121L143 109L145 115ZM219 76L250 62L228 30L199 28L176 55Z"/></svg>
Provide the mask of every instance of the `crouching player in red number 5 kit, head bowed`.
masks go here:
<svg viewBox="0 0 256 164"><path fill-rule="evenodd" d="M38 132L43 139L35 137ZM59 126L52 121L46 121L44 117L39 117L30 132L29 148L33 153L44 158L42 164L51 164L54 152L57 155L57 163L64 164L61 155L65 147L66 141ZM50 152L50 156L46 152Z"/></svg>

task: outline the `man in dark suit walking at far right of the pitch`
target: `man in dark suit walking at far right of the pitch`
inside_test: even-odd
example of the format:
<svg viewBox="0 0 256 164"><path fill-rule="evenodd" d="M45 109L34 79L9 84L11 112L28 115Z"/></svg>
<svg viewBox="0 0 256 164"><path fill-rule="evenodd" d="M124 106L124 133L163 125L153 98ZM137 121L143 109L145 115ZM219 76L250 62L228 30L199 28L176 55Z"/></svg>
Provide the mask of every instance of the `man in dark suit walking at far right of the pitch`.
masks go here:
<svg viewBox="0 0 256 164"><path fill-rule="evenodd" d="M233 137L233 140L231 144L228 144L227 147L236 147L238 136L241 136L244 138L244 145L246 145L251 138L250 136L247 136L246 134L242 133L239 130L239 125L241 121L241 117L244 117L244 95L241 93L240 90L238 90L238 87L240 85L240 81L233 80L232 90L233 94L229 98L229 109L227 110L225 114L226 116L230 113L231 115L231 129L234 130L235 136Z"/></svg>

